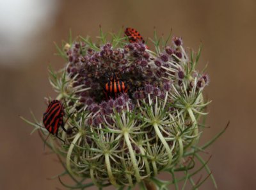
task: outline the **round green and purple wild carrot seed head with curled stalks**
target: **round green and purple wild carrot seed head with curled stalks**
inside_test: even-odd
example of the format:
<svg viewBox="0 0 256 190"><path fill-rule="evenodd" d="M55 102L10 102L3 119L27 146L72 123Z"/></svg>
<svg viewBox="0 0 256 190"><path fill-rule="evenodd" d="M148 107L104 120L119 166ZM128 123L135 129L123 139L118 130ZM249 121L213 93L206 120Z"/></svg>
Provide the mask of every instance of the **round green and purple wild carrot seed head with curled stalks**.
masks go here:
<svg viewBox="0 0 256 190"><path fill-rule="evenodd" d="M144 41L113 38L102 33L102 44L81 38L65 45L65 68L51 71L65 112L74 113L67 127L77 129L60 129L68 173L99 187L134 187L161 171L187 173L193 162L183 161L208 104L202 91L209 77L195 70L199 54L189 60L177 37L162 47L155 42L157 52Z"/></svg>

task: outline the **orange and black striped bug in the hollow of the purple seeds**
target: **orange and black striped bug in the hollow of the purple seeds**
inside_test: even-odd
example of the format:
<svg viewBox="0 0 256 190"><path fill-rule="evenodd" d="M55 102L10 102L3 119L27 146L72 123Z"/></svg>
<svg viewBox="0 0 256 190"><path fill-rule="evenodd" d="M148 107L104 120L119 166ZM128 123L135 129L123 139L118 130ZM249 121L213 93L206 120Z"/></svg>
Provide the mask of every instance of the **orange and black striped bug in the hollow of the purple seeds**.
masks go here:
<svg viewBox="0 0 256 190"><path fill-rule="evenodd" d="M118 79L115 73L109 78L108 83L104 85L106 99L116 98L120 93L127 93L127 91L128 86Z"/></svg>

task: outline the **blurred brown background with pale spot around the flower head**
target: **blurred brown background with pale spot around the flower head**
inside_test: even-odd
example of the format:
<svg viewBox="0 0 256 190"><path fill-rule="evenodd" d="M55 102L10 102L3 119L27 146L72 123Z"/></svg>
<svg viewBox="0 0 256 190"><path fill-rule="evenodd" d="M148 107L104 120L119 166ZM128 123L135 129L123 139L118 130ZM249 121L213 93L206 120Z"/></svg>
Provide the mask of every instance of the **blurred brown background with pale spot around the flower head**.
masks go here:
<svg viewBox="0 0 256 190"><path fill-rule="evenodd" d="M200 68L209 63L211 84L202 141L230 120L227 132L211 148L209 166L219 189L256 189L255 54L256 1L33 1L0 3L0 189L56 189L61 173L54 155L43 154L43 143L19 115L40 118L44 97L56 94L47 66L60 68L53 42L74 35L99 35L122 26L152 37L182 36L185 47L204 45ZM202 189L214 189L208 180Z"/></svg>

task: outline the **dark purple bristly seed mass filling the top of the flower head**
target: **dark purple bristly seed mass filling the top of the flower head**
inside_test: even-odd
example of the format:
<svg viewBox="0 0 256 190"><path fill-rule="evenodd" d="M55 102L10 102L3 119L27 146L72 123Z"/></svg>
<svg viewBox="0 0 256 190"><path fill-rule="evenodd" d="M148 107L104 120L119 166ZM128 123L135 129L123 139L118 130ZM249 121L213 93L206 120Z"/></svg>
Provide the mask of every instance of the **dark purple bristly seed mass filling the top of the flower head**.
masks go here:
<svg viewBox="0 0 256 190"><path fill-rule="evenodd" d="M90 122L99 125L111 123L109 115L114 110L132 110L138 100L165 99L166 91L172 90L173 83L181 86L186 79L180 62L185 58L181 45L181 38L175 37L172 47L166 46L159 56L155 56L141 42L118 48L107 43L93 49L83 42L75 42L67 51L67 72L75 81L73 86L88 89L77 93L81 103L78 108L90 110L93 113ZM116 81L111 81L113 75ZM104 87L108 85L113 90L120 81L127 86L128 92L118 93L115 99L106 97ZM194 83L192 80L189 88L193 88ZM208 83L209 77L202 75L196 81L196 88L203 88Z"/></svg>

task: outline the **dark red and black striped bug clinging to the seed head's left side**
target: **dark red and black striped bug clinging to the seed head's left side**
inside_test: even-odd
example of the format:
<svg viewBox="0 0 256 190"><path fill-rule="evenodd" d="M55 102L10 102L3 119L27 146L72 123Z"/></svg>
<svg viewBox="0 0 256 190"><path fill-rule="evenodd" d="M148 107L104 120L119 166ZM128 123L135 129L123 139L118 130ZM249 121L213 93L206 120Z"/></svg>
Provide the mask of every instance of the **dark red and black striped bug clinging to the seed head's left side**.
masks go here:
<svg viewBox="0 0 256 190"><path fill-rule="evenodd" d="M61 104L60 100L52 100L44 113L43 123L44 123L44 126L47 129L47 131L49 131L49 135L54 134L58 139L60 139L61 141L63 141L65 143L65 141L63 139L58 137L59 127L61 127L63 129L63 131L70 133L70 129L67 130L64 127L64 125L65 125L65 122L63 122L64 115L65 115L65 112L64 112L63 105ZM68 116L68 118L69 118L69 116ZM67 120L68 120L68 118L67 118ZM67 122L67 120L66 120L66 122ZM72 131L72 129L71 129L71 131ZM45 139L45 141L46 141L46 139Z"/></svg>

